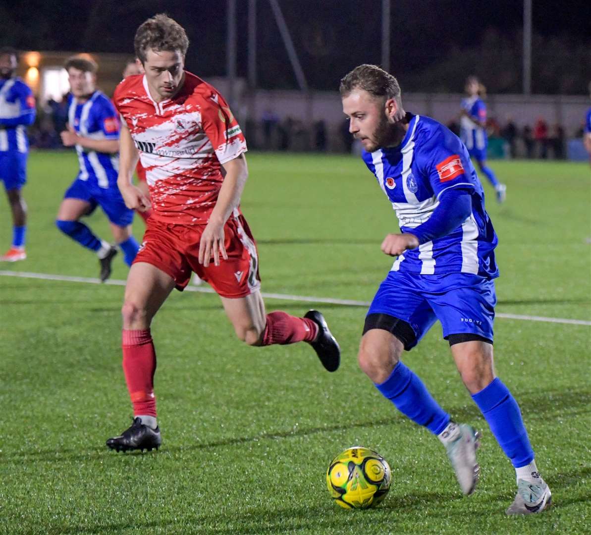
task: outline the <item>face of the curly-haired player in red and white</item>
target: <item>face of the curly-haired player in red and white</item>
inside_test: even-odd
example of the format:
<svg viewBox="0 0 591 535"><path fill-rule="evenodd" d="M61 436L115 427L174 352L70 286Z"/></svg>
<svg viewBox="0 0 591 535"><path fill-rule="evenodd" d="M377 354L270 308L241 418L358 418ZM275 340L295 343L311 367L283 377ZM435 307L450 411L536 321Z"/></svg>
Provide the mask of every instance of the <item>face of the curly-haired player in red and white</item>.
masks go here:
<svg viewBox="0 0 591 535"><path fill-rule="evenodd" d="M183 85L184 57L179 50L155 51L148 48L144 71L154 100L173 98Z"/></svg>

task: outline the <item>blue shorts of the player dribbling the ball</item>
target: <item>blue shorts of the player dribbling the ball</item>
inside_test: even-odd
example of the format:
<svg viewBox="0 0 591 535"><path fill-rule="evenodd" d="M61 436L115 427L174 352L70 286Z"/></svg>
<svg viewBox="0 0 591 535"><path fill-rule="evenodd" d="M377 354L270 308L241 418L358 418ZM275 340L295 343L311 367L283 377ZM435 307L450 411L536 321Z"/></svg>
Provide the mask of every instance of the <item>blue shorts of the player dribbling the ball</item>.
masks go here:
<svg viewBox="0 0 591 535"><path fill-rule="evenodd" d="M380 284L369 314L388 314L407 322L416 340L411 349L439 320L443 338L473 334L492 342L495 319L495 283L470 273L419 275L390 271Z"/></svg>

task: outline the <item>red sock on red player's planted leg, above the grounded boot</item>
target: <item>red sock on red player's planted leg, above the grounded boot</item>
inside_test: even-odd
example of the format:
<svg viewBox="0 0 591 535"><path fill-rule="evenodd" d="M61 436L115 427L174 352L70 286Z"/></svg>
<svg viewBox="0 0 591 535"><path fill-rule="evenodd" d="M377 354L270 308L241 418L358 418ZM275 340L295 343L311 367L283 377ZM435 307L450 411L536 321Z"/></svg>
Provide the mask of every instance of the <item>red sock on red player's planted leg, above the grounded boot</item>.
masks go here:
<svg viewBox="0 0 591 535"><path fill-rule="evenodd" d="M150 329L122 332L123 371L134 416L156 417L154 397L154 372L156 352Z"/></svg>

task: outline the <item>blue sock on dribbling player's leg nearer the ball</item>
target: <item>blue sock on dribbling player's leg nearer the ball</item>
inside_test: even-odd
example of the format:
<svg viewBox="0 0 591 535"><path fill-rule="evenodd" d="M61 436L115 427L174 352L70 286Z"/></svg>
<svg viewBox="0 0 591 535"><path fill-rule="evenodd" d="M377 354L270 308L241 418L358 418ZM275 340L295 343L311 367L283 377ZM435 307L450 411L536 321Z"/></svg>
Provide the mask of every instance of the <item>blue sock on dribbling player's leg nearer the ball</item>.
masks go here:
<svg viewBox="0 0 591 535"><path fill-rule="evenodd" d="M402 414L434 435L439 435L450 421L449 414L429 394L423 381L402 362L395 365L387 380L375 386Z"/></svg>

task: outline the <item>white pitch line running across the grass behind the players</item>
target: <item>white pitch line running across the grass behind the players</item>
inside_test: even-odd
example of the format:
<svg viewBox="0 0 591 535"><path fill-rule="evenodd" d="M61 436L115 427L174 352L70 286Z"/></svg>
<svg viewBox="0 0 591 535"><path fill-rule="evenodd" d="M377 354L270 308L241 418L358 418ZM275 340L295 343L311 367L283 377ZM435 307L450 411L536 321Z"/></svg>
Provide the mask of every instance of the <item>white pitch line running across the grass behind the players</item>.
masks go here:
<svg viewBox="0 0 591 535"><path fill-rule="evenodd" d="M19 277L19 278L38 278L41 280L55 280L67 283L86 283L86 284L108 284L111 286L125 286L124 280L109 279L105 283L101 283L98 278L91 277L70 277L69 275L52 275L48 273L28 273L27 271L2 271L0 275L4 277ZM199 293L215 293L213 288L209 286L191 286L189 284L184 291L197 291ZM355 301L352 299L332 299L330 297L310 297L310 296L294 296L290 294L280 293L265 293L261 292L261 296L265 299L281 299L284 301L300 301L300 303L330 303L342 304L343 306L369 306L369 301ZM591 322L580 319L567 319L563 317L545 317L545 316L522 316L521 314L504 314L496 313L495 317L503 319L517 319L530 322L545 322L545 323L566 323L568 325L586 325L591 326Z"/></svg>

